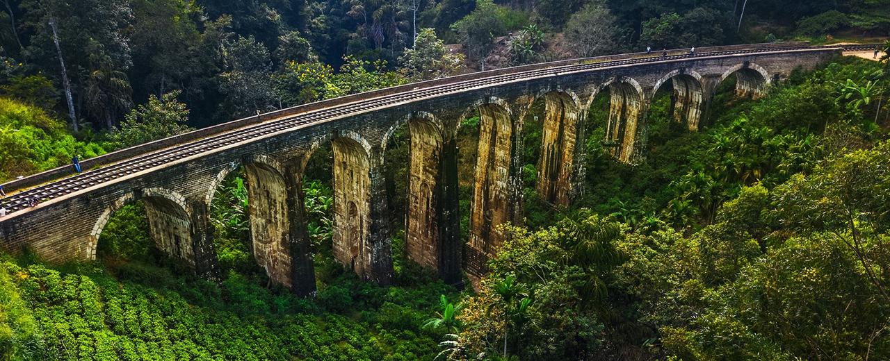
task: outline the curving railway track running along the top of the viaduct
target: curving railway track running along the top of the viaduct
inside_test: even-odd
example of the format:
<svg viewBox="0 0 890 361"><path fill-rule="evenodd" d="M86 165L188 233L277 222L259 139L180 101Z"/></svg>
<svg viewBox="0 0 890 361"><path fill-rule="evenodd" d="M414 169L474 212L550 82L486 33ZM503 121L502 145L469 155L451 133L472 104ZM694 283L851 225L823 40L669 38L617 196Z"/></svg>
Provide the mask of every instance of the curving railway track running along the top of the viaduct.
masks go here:
<svg viewBox="0 0 890 361"><path fill-rule="evenodd" d="M707 58L724 55L789 52L808 49L843 48L845 51L865 51L873 50L875 49L875 46L877 45L805 46L748 49L724 52L701 52L699 54L696 54L695 57ZM126 175L132 174L134 172L142 172L146 169L158 167L163 164L169 164L184 157L206 153L216 148L223 148L231 144L255 139L257 137L271 134L273 132L283 132L291 130L301 125L320 123L332 118L336 118L338 116L346 116L349 114L368 111L376 108L391 107L393 105L409 100L422 100L447 95L453 92L463 92L471 90L473 88L513 83L543 76L558 76L561 74L590 71L598 68L611 68L615 66L633 65L655 61L684 60L688 58L689 56L685 53L668 55L664 58L659 55L653 54L649 57L635 59L579 63L575 65L566 65L554 68L540 68L499 76L466 80L454 84L441 84L428 88L415 89L408 92L384 95L368 100L357 100L352 103L347 103L331 108L312 110L302 114L273 119L261 124L250 125L231 132L223 132L220 134L212 135L201 140L190 141L179 146L153 151L143 154L142 156L134 156L116 164L109 164L92 171L78 173L75 176L63 180L56 180L32 189L23 190L10 197L4 198L2 200L2 204L6 206L9 213L20 212L21 210L27 209L29 207L28 200L30 199L36 199L37 202L44 202L57 197L64 197L69 193L76 192L81 189L90 188L104 182L116 180L117 178L125 177Z"/></svg>

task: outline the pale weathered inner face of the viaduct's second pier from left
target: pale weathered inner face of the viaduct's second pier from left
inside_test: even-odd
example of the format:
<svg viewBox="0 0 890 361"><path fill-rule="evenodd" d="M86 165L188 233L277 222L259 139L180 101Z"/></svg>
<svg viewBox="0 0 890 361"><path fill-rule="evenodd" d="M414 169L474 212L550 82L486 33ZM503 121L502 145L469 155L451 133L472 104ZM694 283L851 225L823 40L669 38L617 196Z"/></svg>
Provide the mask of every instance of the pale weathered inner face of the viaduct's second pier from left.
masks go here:
<svg viewBox="0 0 890 361"><path fill-rule="evenodd" d="M267 164L247 164L245 170L254 258L266 269L272 284L290 287L291 241L284 177Z"/></svg>

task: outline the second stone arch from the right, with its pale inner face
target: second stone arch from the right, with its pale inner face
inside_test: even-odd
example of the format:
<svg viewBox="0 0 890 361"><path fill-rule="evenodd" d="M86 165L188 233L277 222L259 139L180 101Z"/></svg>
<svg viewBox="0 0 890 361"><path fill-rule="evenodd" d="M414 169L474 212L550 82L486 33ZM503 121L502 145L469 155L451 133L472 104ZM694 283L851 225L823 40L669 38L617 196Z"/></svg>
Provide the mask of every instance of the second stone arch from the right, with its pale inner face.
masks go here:
<svg viewBox="0 0 890 361"><path fill-rule="evenodd" d="M679 69L661 77L652 88L650 99L655 98L661 85L671 80L674 85L671 95L671 112L677 121L685 121L690 130L698 130L705 101L705 89L701 75L694 70Z"/></svg>

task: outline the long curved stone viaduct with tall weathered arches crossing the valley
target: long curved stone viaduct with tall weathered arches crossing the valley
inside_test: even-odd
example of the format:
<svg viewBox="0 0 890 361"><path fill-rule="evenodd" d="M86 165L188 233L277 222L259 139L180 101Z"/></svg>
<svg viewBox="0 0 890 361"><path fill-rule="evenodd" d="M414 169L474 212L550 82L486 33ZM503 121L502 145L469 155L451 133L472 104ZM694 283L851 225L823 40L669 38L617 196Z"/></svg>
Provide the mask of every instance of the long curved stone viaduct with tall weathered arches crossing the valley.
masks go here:
<svg viewBox="0 0 890 361"><path fill-rule="evenodd" d="M207 136L214 130L145 146L154 150L126 149L97 160L96 164L106 165L77 175L80 178L58 180L63 171L48 172L53 179L34 176L31 184L53 180L44 189L68 185L55 193L40 193L38 187L7 198L11 202L36 195L40 204L13 207L0 219L0 245L12 253L28 246L49 261L91 260L109 217L142 200L158 248L187 261L198 275L214 278L217 258L208 220L210 202L223 178L245 166L256 261L273 282L295 293L312 294L315 279L303 209L303 168L313 152L329 142L334 151L336 260L363 279L385 285L392 279L392 250L384 148L392 133L407 124L411 156L405 254L437 270L446 282L459 284L462 254L467 267L478 269L505 240L496 226L523 221L519 174L523 160L517 149L522 147L522 119L535 100L546 102L536 187L546 201L568 205L584 179L585 142L578 140L587 138L587 109L597 93L608 89L611 97L606 140L613 145L612 155L634 164L646 155L646 115L662 85L673 84L674 114L695 130L704 124L717 86L728 77L737 79L739 96L756 97L795 68L813 68L842 50L799 45L780 49L775 44L759 48L701 49L694 58L674 52L666 59L629 54L457 76L241 120L233 123L237 129L217 128L215 135L223 137L212 147L177 150L211 139ZM747 52L735 52L738 49ZM580 66L584 64L595 67ZM430 91L421 92L425 90ZM375 103L382 94L390 98ZM461 120L476 112L481 116L480 139L471 237L465 246L457 213L456 136ZM312 116L318 120L236 136L239 131ZM173 156L162 156L164 151ZM121 165L133 163L133 156L150 163ZM27 183L8 183L6 189L22 184Z"/></svg>

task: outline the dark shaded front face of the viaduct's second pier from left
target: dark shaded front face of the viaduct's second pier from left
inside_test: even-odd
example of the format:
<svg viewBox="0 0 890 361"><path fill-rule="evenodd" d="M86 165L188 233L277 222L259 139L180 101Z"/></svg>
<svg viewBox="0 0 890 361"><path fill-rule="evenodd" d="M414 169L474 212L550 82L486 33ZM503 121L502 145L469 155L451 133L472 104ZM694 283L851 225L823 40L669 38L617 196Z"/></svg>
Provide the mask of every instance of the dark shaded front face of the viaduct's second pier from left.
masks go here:
<svg viewBox="0 0 890 361"><path fill-rule="evenodd" d="M290 226L290 292L299 296L315 295L315 262L306 216L303 172L297 164L285 165L287 185L287 223Z"/></svg>

